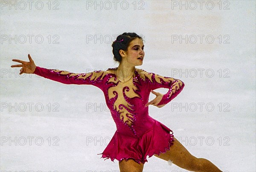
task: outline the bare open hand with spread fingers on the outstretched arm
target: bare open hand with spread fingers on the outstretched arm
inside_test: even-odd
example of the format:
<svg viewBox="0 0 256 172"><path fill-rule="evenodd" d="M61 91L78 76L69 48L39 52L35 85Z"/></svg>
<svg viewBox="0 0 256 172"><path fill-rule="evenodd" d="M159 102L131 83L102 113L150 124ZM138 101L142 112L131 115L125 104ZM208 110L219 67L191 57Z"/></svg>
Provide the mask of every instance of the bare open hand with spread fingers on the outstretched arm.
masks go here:
<svg viewBox="0 0 256 172"><path fill-rule="evenodd" d="M25 62L25 61L18 60L18 59L12 59L12 61L20 62L20 63L22 63L22 65L12 65L11 67L12 68L14 68L14 67L22 67L20 69L20 75L22 73L34 73L36 65L35 65L34 61L32 60L32 58L31 58L31 56L29 54L28 54L28 57L29 57L29 62Z"/></svg>

